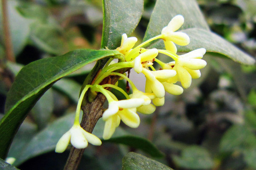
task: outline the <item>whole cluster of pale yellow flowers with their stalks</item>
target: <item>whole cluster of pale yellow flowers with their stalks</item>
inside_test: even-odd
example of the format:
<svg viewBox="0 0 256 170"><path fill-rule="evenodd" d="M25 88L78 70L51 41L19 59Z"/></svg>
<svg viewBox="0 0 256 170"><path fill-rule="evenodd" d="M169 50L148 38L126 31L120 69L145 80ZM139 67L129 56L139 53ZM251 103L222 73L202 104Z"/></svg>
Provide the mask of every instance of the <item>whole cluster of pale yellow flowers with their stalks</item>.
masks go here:
<svg viewBox="0 0 256 170"><path fill-rule="evenodd" d="M79 125L79 112L81 101L86 91L90 89L94 94L102 93L108 100L108 109L102 115L105 121L103 130L103 139L110 139L119 126L120 121L129 127L136 128L140 125L140 117L137 111L143 114L151 114L155 111L155 106L164 105L165 92L173 95L183 93L183 88L189 88L192 79L201 77L200 69L206 66L206 62L202 59L206 50L199 48L187 54L177 55L176 45L188 45L189 36L183 32L177 31L184 23L181 15L175 16L168 26L164 27L161 34L153 37L142 44L136 46L136 37L127 37L122 34L121 45L116 48L122 55L115 56L106 63L102 71L97 75L95 81L91 85L85 86L82 91L76 110L76 119L73 127L65 133L56 146L56 152L63 152L69 142L76 148L87 147L88 142L94 145L100 145L99 138L91 133L86 132ZM162 39L165 44L164 49L146 49L143 46L157 39ZM157 59L159 53L165 54L173 61L164 63ZM119 62L113 63L113 59L118 58ZM160 65L160 70L154 68L154 63ZM125 75L125 71L134 68L138 74L144 74L145 92L139 91L134 83ZM131 85L133 93L128 95L123 89L116 85L104 84L102 80L109 76L119 76L125 79ZM180 82L180 85L176 83ZM182 88L183 87L183 88ZM116 96L109 91L109 88L115 88L120 91L126 99L118 100ZM151 104L151 100L153 104Z"/></svg>

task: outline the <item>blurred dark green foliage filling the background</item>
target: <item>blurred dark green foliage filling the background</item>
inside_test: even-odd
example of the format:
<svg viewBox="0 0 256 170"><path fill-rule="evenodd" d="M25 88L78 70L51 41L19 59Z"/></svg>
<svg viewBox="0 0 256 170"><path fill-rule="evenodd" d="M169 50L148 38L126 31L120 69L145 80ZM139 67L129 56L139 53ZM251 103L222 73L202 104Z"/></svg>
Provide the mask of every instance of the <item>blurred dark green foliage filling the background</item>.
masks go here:
<svg viewBox="0 0 256 170"><path fill-rule="evenodd" d="M143 17L133 33L139 41L154 3L145 0ZM198 0L198 4L212 31L256 56L255 0ZM0 71L0 117L6 93L23 65L78 48L99 49L102 36L101 0L9 0L8 10L16 62L4 62L0 24L0 59L6 67ZM2 11L0 17L2 21ZM256 66L211 54L204 59L208 65L191 88L180 96L167 95L165 105L152 115L140 115L139 128L123 125L112 142L90 145L79 168L121 169L122 157L134 151L148 157L163 153L163 157L151 158L175 170L255 170ZM69 152L55 153L55 141L72 126L70 117L81 84L92 67L87 65L58 81L30 111L9 151L8 156L17 159L15 166L22 170L63 169ZM123 88L125 83L119 81ZM97 129L94 133L101 135ZM128 133L148 139L160 151L151 145L146 147L152 148L153 154L143 147L136 149L136 144L127 146L118 136Z"/></svg>

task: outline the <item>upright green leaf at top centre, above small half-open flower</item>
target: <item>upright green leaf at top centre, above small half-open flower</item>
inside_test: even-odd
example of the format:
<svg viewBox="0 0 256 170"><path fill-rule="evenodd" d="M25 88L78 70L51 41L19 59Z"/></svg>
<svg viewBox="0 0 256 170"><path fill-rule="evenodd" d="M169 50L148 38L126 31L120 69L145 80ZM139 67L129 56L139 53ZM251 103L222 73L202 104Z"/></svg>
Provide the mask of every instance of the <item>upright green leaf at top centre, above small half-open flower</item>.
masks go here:
<svg viewBox="0 0 256 170"><path fill-rule="evenodd" d="M117 48L122 34L134 31L142 12L143 0L103 0L102 48Z"/></svg>

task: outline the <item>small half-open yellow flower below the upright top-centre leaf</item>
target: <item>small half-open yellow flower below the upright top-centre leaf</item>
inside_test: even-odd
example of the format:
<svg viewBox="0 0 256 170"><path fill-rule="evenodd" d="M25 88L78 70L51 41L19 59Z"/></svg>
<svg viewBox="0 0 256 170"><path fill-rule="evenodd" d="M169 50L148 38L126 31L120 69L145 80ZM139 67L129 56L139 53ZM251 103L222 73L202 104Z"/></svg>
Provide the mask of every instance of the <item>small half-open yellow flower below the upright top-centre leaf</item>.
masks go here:
<svg viewBox="0 0 256 170"><path fill-rule="evenodd" d="M126 34L122 34L122 40L120 47L117 47L116 50L122 54L126 54L131 48L134 47L135 43L137 42L136 37L127 37Z"/></svg>

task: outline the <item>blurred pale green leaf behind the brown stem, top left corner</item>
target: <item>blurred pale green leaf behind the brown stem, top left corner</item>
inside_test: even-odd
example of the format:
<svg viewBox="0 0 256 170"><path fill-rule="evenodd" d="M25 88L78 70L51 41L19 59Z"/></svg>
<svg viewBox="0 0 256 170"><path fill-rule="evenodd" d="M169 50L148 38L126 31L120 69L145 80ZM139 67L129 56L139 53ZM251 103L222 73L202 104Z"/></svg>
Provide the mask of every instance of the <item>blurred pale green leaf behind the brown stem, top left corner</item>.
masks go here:
<svg viewBox="0 0 256 170"><path fill-rule="evenodd" d="M29 25L32 23L32 20L24 18L19 13L17 10L17 7L20 5L18 1L8 0L7 3L13 50L16 56L26 45L27 39L29 37ZM2 6L0 5L0 37L3 35L3 30L1 29L3 26L2 21Z"/></svg>

